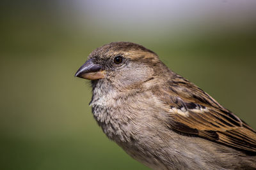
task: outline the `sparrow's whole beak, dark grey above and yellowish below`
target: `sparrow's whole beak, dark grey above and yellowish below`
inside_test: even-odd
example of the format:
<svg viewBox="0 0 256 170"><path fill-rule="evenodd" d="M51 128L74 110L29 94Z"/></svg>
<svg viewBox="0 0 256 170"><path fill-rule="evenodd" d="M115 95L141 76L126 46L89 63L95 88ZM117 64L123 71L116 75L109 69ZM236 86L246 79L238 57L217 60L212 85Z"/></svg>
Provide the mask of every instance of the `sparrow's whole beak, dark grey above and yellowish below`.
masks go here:
<svg viewBox="0 0 256 170"><path fill-rule="evenodd" d="M99 64L93 63L93 59L89 59L77 70L75 76L88 80L98 80L105 78L106 71L102 70L102 66Z"/></svg>

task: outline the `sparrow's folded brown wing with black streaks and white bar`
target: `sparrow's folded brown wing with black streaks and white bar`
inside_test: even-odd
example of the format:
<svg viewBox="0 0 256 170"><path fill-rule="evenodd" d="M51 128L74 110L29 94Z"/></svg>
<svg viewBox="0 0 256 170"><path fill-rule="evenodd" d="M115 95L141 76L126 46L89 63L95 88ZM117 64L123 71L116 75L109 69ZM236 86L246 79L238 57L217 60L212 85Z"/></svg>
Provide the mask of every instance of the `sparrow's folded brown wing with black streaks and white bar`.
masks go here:
<svg viewBox="0 0 256 170"><path fill-rule="evenodd" d="M256 131L196 85L181 80L169 81L159 95L170 107L170 128L245 152L256 152Z"/></svg>

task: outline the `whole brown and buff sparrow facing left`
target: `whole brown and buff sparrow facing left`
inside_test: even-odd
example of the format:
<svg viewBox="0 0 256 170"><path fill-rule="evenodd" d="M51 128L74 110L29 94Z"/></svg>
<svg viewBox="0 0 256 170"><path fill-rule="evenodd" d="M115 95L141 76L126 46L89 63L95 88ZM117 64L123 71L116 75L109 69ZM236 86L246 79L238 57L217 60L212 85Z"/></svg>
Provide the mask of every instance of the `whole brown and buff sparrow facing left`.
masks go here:
<svg viewBox="0 0 256 170"><path fill-rule="evenodd" d="M152 169L256 169L256 131L156 53L114 42L90 53L93 116L109 139Z"/></svg>

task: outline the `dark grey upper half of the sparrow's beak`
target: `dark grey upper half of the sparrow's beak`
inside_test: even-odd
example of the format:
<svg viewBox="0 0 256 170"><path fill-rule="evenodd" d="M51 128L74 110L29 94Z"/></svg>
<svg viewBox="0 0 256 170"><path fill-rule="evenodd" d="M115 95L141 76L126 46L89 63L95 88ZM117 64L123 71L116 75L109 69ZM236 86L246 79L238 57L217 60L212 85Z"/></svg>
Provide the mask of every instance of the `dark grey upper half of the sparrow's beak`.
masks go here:
<svg viewBox="0 0 256 170"><path fill-rule="evenodd" d="M94 73L94 72L100 71L101 69L102 69L102 66L100 66L99 64L94 64L93 59L89 59L83 64L83 66L81 66L77 70L75 76L79 78L84 78L83 76L84 74Z"/></svg>

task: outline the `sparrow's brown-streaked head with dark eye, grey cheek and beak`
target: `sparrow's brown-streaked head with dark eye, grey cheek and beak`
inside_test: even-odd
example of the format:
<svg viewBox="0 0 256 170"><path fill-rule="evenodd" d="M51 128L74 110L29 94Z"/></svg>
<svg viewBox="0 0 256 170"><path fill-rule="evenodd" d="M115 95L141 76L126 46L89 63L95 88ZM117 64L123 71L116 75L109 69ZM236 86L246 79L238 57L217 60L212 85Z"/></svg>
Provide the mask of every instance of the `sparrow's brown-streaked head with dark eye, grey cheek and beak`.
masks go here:
<svg viewBox="0 0 256 170"><path fill-rule="evenodd" d="M134 88L154 79L159 71L168 69L156 53L129 42L100 46L88 56L76 76L88 80L108 81L118 88Z"/></svg>

